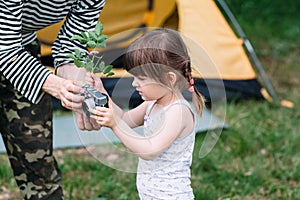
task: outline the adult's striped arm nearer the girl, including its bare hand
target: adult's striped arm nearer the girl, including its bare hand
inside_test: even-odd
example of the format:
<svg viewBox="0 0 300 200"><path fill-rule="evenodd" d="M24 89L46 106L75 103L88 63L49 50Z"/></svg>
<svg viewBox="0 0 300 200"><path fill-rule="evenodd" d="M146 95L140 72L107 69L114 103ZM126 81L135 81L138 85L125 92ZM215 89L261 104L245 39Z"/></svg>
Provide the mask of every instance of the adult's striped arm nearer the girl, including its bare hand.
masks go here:
<svg viewBox="0 0 300 200"><path fill-rule="evenodd" d="M79 82L84 81L83 74L86 71L74 66L73 61L67 58L67 55L73 53L74 49L86 52L87 48L78 41L70 41L70 38L74 34L93 30L104 4L105 0L82 0L78 1L78 4L70 10L52 46L52 56L58 76ZM93 123L93 120L85 117L80 112L76 113L76 122L81 130L98 130L100 128L97 123Z"/></svg>

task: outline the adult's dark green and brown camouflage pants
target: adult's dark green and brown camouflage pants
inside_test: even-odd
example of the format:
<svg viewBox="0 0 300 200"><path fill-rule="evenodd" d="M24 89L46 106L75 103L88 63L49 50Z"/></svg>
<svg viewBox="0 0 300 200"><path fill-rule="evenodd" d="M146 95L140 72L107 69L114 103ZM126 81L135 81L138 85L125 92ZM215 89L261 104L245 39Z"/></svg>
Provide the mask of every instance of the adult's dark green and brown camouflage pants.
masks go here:
<svg viewBox="0 0 300 200"><path fill-rule="evenodd" d="M0 74L0 132L24 199L63 199L49 95L32 104Z"/></svg>

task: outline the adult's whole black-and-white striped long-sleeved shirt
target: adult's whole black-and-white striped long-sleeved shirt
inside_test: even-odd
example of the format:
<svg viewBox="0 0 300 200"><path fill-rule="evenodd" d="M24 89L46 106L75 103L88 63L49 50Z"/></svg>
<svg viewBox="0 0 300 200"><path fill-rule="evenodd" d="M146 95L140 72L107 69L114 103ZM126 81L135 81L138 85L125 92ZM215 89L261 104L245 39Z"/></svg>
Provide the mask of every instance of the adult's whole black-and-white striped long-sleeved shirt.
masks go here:
<svg viewBox="0 0 300 200"><path fill-rule="evenodd" d="M92 30L105 0L0 0L0 70L32 103L43 96L44 81L51 73L24 50L36 31L66 19L52 46L54 66L72 63L66 55L86 47L69 39Z"/></svg>

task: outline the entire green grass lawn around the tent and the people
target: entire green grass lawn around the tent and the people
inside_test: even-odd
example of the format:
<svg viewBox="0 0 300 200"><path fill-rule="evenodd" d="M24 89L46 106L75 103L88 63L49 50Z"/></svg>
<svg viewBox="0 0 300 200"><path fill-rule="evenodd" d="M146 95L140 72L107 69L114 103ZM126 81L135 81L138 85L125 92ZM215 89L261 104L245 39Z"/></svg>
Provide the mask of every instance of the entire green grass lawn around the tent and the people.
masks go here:
<svg viewBox="0 0 300 200"><path fill-rule="evenodd" d="M280 100L228 102L226 122L212 151L200 158L205 133L197 134L192 164L196 199L300 199L300 2L228 0ZM260 77L258 77L260 79ZM211 134L211 133L210 133ZM107 151L106 146L98 147ZM57 149L65 199L137 199L135 173L108 167L87 149ZM108 159L119 159L112 154ZM0 200L20 195L8 164L0 155Z"/></svg>

